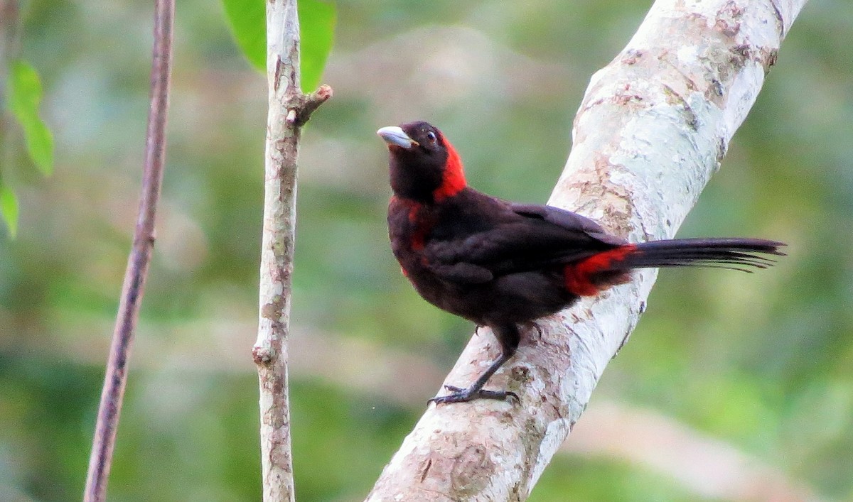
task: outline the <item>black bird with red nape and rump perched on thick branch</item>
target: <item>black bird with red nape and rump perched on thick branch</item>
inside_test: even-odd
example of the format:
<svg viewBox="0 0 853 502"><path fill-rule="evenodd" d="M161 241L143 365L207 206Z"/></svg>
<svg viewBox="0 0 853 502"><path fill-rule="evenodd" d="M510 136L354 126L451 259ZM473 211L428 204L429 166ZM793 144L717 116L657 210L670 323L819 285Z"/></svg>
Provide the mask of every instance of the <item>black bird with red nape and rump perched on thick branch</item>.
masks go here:
<svg viewBox="0 0 853 502"><path fill-rule="evenodd" d="M393 196L388 234L403 274L427 302L490 326L501 356L467 388L446 385L437 404L518 398L483 389L519 346L521 327L609 287L635 268L766 268L784 256L764 239L629 243L589 218L515 204L467 186L462 161L438 128L411 122L376 131L388 146Z"/></svg>

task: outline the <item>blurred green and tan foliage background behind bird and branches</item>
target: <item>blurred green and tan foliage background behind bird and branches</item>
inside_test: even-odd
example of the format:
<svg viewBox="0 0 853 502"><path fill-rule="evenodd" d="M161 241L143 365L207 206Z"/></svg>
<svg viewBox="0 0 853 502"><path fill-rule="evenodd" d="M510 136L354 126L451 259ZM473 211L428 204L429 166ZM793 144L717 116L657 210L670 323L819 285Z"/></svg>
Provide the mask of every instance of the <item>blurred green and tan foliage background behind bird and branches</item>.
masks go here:
<svg viewBox="0 0 853 502"><path fill-rule="evenodd" d="M383 125L437 124L468 181L544 202L590 75L648 2L337 3L305 130L293 276L293 450L303 501L362 499L472 326L423 302L388 249ZM131 245L152 7L25 2L55 174L20 134L0 229L0 499L83 490ZM531 500L853 499L853 3L815 0L681 236L762 236L758 274L670 270ZM257 500L265 78L216 2L177 4L158 241L111 500Z"/></svg>

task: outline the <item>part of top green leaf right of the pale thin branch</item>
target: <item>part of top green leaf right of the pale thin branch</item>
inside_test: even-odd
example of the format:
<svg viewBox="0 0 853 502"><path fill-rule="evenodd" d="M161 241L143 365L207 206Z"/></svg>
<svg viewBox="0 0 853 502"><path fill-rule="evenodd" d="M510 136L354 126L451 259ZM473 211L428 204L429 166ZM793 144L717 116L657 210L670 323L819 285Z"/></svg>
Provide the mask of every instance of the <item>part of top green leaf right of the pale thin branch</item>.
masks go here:
<svg viewBox="0 0 853 502"><path fill-rule="evenodd" d="M322 70L334 40L334 3L320 0L299 0L299 38L301 54L299 70L302 89L313 91L320 85Z"/></svg>

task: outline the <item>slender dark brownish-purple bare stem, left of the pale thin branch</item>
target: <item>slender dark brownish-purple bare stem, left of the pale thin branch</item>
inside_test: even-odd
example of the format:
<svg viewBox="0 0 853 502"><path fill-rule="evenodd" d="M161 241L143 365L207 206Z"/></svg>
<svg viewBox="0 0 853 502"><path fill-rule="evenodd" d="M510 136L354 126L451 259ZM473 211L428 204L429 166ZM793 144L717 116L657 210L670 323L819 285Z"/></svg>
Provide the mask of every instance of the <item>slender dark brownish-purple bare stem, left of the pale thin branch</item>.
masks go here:
<svg viewBox="0 0 853 502"><path fill-rule="evenodd" d="M145 141L142 195L133 234L133 247L125 270L119 313L116 316L113 343L107 361L107 374L98 408L95 438L89 459L89 474L86 477L84 499L100 502L106 498L107 478L113 462L115 434L119 426L119 412L125 395L127 362L130 356L133 332L145 280L148 263L154 250L154 216L160 185L163 182L165 159L165 123L169 107L169 78L171 75L172 19L175 13L174 0L155 0L154 3L154 53L151 65L151 108L148 112L148 132Z"/></svg>

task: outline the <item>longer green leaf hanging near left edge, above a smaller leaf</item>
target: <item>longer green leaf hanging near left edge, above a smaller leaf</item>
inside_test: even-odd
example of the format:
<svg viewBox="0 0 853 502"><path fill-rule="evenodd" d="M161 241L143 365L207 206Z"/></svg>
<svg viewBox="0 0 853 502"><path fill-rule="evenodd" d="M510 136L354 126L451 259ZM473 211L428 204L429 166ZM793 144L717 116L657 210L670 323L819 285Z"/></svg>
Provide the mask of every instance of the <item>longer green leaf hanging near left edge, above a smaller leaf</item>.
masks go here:
<svg viewBox="0 0 853 502"><path fill-rule="evenodd" d="M42 83L36 70L26 61L15 61L9 71L9 110L24 130L26 152L45 176L53 172L53 136L38 117L42 101Z"/></svg>

